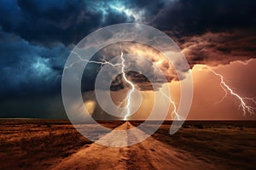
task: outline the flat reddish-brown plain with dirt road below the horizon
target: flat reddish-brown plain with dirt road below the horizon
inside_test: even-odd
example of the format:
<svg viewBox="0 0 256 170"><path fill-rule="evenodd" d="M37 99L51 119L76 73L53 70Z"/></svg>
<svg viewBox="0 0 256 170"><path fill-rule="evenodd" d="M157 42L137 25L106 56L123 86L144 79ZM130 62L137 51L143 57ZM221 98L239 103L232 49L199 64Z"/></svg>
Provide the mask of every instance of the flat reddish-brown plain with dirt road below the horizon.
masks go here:
<svg viewBox="0 0 256 170"><path fill-rule="evenodd" d="M125 122L101 122L105 127ZM129 122L137 126L140 122ZM254 169L256 122L165 122L140 144L109 148L63 120L1 119L0 169ZM126 123L128 124L128 123Z"/></svg>

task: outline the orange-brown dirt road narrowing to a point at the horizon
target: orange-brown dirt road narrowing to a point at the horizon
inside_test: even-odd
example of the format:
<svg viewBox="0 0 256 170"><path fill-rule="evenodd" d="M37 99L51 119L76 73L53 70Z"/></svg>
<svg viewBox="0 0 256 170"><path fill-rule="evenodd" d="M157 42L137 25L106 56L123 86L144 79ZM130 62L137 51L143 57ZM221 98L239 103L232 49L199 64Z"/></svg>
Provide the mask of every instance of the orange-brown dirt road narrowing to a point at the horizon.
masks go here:
<svg viewBox="0 0 256 170"><path fill-rule="evenodd" d="M113 130L133 128L130 122L125 122ZM137 133L127 134L132 139L140 139L143 131L137 128ZM131 137L132 135L132 137ZM109 139L109 140L108 140ZM117 133L110 132L101 140L108 140L117 145ZM101 143L99 141L99 143ZM114 145L114 144L112 144ZM218 165L202 161L191 155L189 151L178 150L171 145L164 144L153 137L148 137L141 143L125 147L108 147L101 144L85 144L80 150L54 165L54 170L65 169L221 169Z"/></svg>

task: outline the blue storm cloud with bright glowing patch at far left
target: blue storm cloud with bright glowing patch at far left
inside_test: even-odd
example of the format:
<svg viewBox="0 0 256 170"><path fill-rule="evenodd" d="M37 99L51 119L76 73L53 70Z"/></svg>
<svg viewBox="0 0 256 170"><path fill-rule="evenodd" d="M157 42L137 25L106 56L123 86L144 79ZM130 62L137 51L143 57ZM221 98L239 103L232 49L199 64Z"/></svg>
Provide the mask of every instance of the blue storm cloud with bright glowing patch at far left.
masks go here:
<svg viewBox="0 0 256 170"><path fill-rule="evenodd" d="M0 31L1 98L55 94L69 49L32 45L15 34Z"/></svg>

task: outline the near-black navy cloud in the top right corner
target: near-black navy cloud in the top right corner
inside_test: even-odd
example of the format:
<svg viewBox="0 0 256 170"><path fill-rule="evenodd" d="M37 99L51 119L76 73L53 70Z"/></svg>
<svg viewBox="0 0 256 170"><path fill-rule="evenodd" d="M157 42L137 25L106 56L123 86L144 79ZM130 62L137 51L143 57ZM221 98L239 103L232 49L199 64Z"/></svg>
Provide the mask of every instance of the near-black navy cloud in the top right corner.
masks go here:
<svg viewBox="0 0 256 170"><path fill-rule="evenodd" d="M253 0L172 1L151 23L179 34L201 34L256 26Z"/></svg>

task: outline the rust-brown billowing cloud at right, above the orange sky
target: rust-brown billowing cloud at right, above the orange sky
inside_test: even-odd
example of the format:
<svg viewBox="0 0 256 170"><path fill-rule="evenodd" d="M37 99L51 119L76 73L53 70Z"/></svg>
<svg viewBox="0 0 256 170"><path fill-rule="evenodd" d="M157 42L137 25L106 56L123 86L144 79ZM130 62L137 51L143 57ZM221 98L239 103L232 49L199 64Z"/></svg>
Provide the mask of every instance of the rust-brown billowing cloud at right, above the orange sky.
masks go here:
<svg viewBox="0 0 256 170"><path fill-rule="evenodd" d="M191 66L227 65L234 60L256 58L255 31L207 32L183 38L181 48Z"/></svg>

